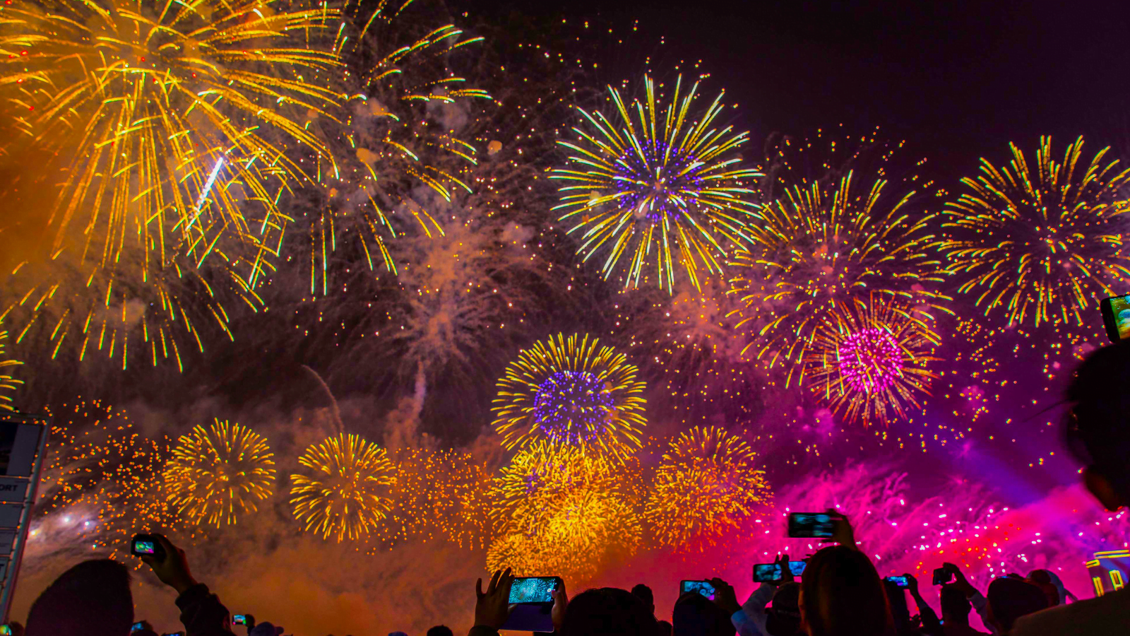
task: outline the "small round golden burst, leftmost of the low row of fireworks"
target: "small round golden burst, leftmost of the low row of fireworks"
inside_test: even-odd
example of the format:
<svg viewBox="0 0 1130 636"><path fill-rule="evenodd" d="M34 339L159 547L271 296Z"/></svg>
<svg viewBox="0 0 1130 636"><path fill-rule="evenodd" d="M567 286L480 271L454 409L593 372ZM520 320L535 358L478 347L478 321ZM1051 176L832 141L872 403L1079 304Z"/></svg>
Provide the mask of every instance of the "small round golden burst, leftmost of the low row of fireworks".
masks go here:
<svg viewBox="0 0 1130 636"><path fill-rule="evenodd" d="M251 429L217 419L177 441L165 467L165 489L190 521L234 524L275 491L275 455Z"/></svg>

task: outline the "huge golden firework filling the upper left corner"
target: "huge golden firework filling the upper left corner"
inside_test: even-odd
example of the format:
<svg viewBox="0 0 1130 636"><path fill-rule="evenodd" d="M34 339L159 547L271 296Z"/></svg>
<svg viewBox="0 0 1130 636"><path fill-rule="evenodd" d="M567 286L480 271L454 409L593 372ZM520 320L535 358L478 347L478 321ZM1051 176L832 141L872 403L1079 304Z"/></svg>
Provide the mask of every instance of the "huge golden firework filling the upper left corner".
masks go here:
<svg viewBox="0 0 1130 636"><path fill-rule="evenodd" d="M203 319L227 330L218 291L259 304L253 289L287 222L280 195L310 181L307 166L332 162L305 122L332 115L338 101L323 87L337 54L307 45L337 12L280 5L3 8L5 114L28 153L58 161L35 166L36 184L17 183L52 194L47 213L24 221L43 244L31 264L15 264L6 312L58 344L79 340L84 353L94 341L123 364L134 352L180 363L183 345L171 340L201 347ZM58 184L44 177L53 171ZM193 320L195 304L206 309Z"/></svg>

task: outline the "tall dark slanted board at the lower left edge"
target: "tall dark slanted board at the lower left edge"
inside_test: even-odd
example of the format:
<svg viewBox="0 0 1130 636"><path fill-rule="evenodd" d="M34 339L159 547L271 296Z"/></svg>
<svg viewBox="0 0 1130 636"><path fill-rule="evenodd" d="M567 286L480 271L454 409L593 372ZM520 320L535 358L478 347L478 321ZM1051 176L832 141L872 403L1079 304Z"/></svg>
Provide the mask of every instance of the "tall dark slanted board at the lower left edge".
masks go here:
<svg viewBox="0 0 1130 636"><path fill-rule="evenodd" d="M51 419L0 411L0 619L16 590Z"/></svg>

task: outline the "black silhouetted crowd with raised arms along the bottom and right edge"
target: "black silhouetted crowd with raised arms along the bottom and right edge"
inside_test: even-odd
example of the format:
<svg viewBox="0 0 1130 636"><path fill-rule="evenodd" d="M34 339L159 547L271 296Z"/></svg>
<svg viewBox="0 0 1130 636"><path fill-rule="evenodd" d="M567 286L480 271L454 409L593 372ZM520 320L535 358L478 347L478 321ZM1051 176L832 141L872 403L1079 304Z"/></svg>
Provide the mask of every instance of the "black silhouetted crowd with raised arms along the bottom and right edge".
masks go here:
<svg viewBox="0 0 1130 636"><path fill-rule="evenodd" d="M1087 490L1109 510L1130 504L1130 342L1103 347L1079 367L1066 395L1063 422L1068 448L1079 459ZM762 583L739 603L733 587L711 578L712 598L684 593L671 621L655 616L654 595L644 584L632 591L585 590L572 599L564 584L551 593L554 631L562 636L970 636L976 610L993 634L1007 636L1130 634L1130 588L1077 600L1050 570L1010 574L986 590L972 585L962 569L937 564L949 582L938 585L940 617L911 575L883 578L860 550L850 519L834 517L827 547L808 558L800 582L779 557L781 579ZM184 636L279 636L285 629L232 616L189 568L184 550L155 535L163 555L140 557L165 585L176 591ZM146 621L134 622L130 570L119 561L92 559L64 571L38 596L26 627L12 622L17 636L156 636ZM495 571L484 588L476 584L475 621L468 636L498 636L513 605L510 569ZM914 601L911 613L906 596ZM470 601L470 598L468 599ZM1074 602L1069 602L1074 601ZM453 636L436 626L427 636ZM389 636L407 636L392 633Z"/></svg>

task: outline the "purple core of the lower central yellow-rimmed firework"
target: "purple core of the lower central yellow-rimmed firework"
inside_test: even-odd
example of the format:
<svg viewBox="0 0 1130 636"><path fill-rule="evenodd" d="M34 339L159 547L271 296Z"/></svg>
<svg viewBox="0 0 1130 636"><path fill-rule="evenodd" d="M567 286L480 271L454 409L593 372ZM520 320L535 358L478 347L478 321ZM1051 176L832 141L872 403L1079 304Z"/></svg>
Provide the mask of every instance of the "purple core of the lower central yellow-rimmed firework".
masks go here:
<svg viewBox="0 0 1130 636"><path fill-rule="evenodd" d="M555 371L533 397L533 419L555 444L591 441L614 411L607 383L588 371Z"/></svg>

